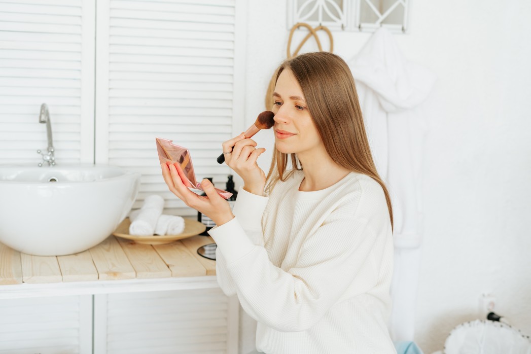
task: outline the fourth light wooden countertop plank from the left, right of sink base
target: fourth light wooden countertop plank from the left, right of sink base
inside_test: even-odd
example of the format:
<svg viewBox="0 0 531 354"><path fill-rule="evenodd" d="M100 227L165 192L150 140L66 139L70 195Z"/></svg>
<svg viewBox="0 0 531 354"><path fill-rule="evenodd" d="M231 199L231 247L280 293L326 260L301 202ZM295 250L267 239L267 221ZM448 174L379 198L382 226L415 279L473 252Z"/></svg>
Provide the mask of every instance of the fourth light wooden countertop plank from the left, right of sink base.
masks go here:
<svg viewBox="0 0 531 354"><path fill-rule="evenodd" d="M136 278L135 270L114 236L89 249L99 280Z"/></svg>

